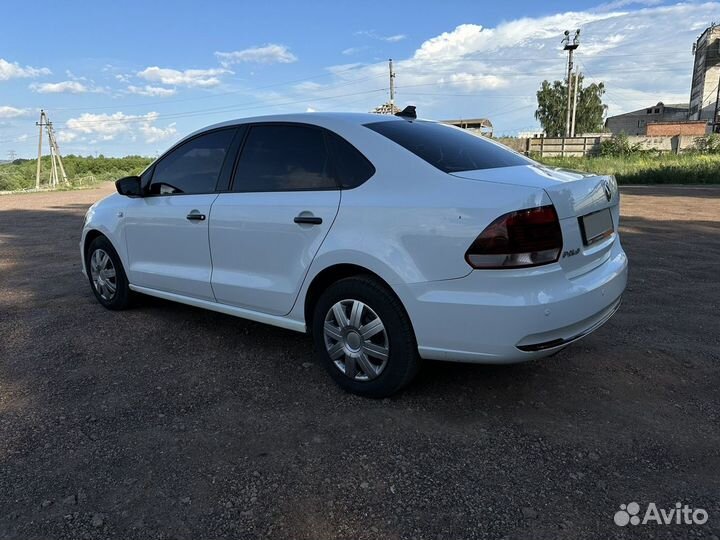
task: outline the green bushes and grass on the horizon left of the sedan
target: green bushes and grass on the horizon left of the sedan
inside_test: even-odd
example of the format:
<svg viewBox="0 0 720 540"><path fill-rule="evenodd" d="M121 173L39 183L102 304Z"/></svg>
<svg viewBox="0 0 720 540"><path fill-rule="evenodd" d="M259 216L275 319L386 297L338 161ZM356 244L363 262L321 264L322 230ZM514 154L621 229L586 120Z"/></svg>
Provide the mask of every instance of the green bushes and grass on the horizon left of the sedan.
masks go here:
<svg viewBox="0 0 720 540"><path fill-rule="evenodd" d="M70 185L60 184L60 188L77 188L107 180L117 180L123 176L139 174L152 158L127 156L123 158L83 157L68 155L63 157L63 165ZM47 187L50 177L50 157L42 159L41 187ZM36 160L15 160L0 165L0 191L19 191L35 187Z"/></svg>

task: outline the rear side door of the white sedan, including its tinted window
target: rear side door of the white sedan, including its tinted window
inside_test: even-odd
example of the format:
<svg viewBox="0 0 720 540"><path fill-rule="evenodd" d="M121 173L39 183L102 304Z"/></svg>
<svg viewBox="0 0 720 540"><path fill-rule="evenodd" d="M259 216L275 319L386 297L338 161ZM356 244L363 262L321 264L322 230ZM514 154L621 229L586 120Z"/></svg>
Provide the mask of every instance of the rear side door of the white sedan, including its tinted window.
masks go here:
<svg viewBox="0 0 720 540"><path fill-rule="evenodd" d="M248 128L231 192L213 204L212 287L218 302L290 312L340 205L326 133L304 124Z"/></svg>

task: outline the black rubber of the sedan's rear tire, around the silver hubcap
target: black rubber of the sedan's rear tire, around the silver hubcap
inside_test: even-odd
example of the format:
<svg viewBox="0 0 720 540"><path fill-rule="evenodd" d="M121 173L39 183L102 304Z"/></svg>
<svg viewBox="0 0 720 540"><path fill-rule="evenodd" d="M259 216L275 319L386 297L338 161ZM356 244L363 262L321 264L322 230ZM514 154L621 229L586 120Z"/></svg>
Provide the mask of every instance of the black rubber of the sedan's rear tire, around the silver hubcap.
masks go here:
<svg viewBox="0 0 720 540"><path fill-rule="evenodd" d="M359 373L362 371L362 367L355 370L355 377L350 377L343 372L343 370L347 369L348 357L344 353L338 353L341 358L336 360L343 364L343 368L338 367L335 363L336 360L330 357L328 352L328 346L330 345L327 344L337 345L339 340L326 337L324 331L326 317L332 317L331 323L335 324L337 319L334 315L331 316L329 312L333 306L343 300L362 302L365 308L370 308L370 310L365 308L363 310L369 312L371 317L373 315L378 317L384 326L381 339L387 345L387 361L375 378L357 380L357 376L366 376L364 373ZM348 307L352 310L351 303L348 304ZM370 398L390 396L406 387L420 368L415 333L405 308L392 291L371 276L345 278L328 287L315 305L312 325L316 355L333 380L341 388L353 394ZM363 338L361 340L362 343L368 343ZM359 345L359 347L362 348L363 345ZM382 360L375 358L371 358L371 360L382 362ZM355 369L356 364L353 362L351 365L353 366L352 369Z"/></svg>

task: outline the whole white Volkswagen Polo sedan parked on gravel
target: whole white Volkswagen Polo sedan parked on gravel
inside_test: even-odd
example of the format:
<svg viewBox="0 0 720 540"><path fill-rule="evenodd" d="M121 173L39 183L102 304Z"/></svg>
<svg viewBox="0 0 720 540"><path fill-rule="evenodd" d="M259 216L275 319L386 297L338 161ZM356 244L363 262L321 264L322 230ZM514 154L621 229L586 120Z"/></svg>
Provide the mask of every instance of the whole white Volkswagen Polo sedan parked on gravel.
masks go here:
<svg viewBox="0 0 720 540"><path fill-rule="evenodd" d="M365 396L421 359L553 354L606 322L627 281L613 177L411 110L217 124L116 185L80 241L103 306L143 293L311 333Z"/></svg>

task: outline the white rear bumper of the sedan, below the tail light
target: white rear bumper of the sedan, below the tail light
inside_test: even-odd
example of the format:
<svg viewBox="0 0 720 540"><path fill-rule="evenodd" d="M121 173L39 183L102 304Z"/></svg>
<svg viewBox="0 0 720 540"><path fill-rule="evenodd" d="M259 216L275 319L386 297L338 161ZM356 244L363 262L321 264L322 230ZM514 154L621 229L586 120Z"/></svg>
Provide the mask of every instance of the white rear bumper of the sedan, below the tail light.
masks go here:
<svg viewBox="0 0 720 540"><path fill-rule="evenodd" d="M627 283L619 239L597 268L569 279L557 264L473 271L398 291L432 360L514 363L548 356L587 336L617 311Z"/></svg>

